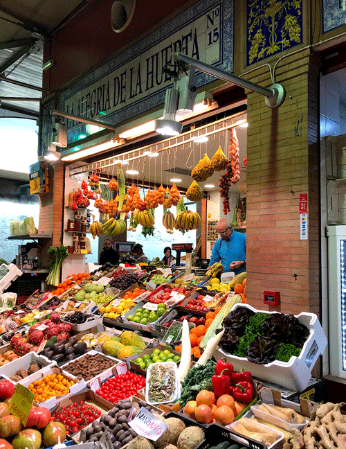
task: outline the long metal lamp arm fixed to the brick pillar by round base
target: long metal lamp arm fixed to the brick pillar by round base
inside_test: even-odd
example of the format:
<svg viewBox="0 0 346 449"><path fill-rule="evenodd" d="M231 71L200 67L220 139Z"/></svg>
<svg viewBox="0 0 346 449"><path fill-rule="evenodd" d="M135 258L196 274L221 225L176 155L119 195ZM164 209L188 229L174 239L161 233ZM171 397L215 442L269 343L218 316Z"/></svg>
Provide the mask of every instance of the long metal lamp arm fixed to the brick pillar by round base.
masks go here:
<svg viewBox="0 0 346 449"><path fill-rule="evenodd" d="M201 62L197 59L190 58L190 56L184 55L183 53L175 53L174 59L176 62L183 62L184 64L193 65L197 70L215 76L220 80L233 82L233 84L244 87L244 89L249 89L257 92L257 94L264 95L266 97L266 105L269 107L277 107L284 102L285 89L280 84L275 83L271 85L269 89L266 89L266 87L255 84L255 82L244 80L244 78L240 78L239 76L232 75L224 70L217 69L210 64L206 64L206 62Z"/></svg>

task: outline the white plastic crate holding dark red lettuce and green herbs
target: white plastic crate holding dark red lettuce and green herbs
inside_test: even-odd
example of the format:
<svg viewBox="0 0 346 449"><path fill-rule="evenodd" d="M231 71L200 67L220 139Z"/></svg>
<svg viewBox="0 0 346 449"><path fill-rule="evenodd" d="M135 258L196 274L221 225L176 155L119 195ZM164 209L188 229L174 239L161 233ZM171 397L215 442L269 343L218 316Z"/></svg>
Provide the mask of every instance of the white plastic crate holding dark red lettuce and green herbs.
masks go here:
<svg viewBox="0 0 346 449"><path fill-rule="evenodd" d="M248 304L236 304L235 308L244 307L253 312L264 312L271 315L277 312L266 312L264 310L256 310ZM268 382L275 382L277 385L292 389L293 391L303 391L311 378L311 370L315 365L318 356L325 351L327 346L327 338L323 332L322 326L318 321L318 317L314 313L302 312L296 315L300 324L304 324L310 331L307 341L302 347L299 357L291 357L289 362L274 362L267 364L257 364L250 362L246 358L237 357L237 355L229 354L221 348L217 348L214 353L216 360L226 357L226 360L233 364L235 371L251 371L253 376Z"/></svg>

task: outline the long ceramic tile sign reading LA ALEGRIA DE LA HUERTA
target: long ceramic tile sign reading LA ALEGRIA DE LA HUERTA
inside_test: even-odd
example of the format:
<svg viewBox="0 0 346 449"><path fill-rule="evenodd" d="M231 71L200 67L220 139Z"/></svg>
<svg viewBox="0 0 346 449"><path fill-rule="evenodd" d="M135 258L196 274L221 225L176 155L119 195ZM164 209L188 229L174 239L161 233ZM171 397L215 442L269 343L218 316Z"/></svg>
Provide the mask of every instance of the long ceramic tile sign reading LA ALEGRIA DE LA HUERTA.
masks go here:
<svg viewBox="0 0 346 449"><path fill-rule="evenodd" d="M70 114L120 123L165 103L173 78L163 73L172 68L174 53L233 71L233 0L200 0L129 47L113 60L88 73L60 96L60 109ZM213 76L196 72L197 87ZM92 134L81 123L68 120L69 142L80 134ZM63 150L66 155L69 150Z"/></svg>

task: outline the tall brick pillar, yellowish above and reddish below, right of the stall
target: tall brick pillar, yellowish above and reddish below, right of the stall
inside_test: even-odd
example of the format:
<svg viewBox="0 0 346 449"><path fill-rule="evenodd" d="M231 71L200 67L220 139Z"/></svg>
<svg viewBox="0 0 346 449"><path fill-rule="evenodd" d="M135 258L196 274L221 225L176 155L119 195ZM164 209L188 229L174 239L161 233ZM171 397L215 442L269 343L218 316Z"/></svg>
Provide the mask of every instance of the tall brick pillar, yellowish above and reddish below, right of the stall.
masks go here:
<svg viewBox="0 0 346 449"><path fill-rule="evenodd" d="M246 78L271 85L268 67ZM286 89L279 108L247 92L248 298L268 309L263 291L279 290L278 311L319 313L318 63L303 50L283 58L275 78ZM308 194L309 240L300 240L300 193Z"/></svg>

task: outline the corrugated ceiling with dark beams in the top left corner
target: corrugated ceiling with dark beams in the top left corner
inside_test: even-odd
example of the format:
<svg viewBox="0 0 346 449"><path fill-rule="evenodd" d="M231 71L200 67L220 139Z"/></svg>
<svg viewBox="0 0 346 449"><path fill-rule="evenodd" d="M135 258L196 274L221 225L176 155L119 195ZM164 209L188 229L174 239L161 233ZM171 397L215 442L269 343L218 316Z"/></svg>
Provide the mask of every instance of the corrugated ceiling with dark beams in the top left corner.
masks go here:
<svg viewBox="0 0 346 449"><path fill-rule="evenodd" d="M0 0L0 118L38 117L44 39L91 1Z"/></svg>

